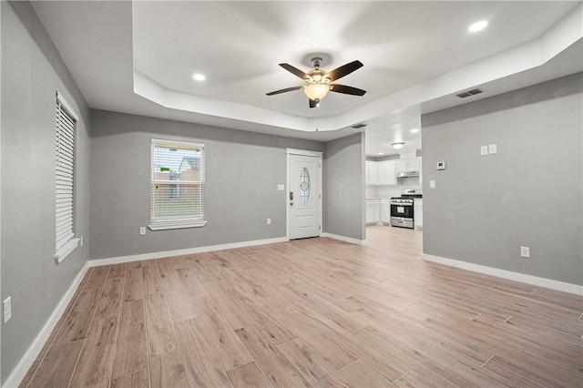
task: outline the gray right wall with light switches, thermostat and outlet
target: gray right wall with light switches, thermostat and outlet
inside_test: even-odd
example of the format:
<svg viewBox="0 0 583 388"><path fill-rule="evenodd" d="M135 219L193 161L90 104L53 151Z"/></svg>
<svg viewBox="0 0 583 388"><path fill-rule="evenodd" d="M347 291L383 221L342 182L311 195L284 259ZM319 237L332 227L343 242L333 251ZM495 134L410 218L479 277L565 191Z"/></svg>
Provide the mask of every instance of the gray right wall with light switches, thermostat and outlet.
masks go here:
<svg viewBox="0 0 583 388"><path fill-rule="evenodd" d="M582 79L422 117L424 253L583 284Z"/></svg>

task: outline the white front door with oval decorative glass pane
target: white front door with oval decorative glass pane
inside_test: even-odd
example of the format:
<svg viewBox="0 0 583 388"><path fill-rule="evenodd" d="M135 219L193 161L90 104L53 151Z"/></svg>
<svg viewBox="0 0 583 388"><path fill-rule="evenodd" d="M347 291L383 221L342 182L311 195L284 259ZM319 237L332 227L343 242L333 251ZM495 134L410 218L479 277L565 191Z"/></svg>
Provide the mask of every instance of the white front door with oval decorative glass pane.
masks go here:
<svg viewBox="0 0 583 388"><path fill-rule="evenodd" d="M288 151L289 152L289 151ZM309 152L307 152L309 153ZM288 153L288 238L322 233L322 154Z"/></svg>

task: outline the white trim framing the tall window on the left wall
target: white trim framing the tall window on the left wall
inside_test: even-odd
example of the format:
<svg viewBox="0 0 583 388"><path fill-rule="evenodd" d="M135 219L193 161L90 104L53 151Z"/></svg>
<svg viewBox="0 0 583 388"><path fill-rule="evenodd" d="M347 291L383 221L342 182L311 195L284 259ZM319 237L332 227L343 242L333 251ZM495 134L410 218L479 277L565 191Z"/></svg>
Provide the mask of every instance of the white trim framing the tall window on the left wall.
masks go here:
<svg viewBox="0 0 583 388"><path fill-rule="evenodd" d="M56 104L57 107L59 107L60 109L66 111L66 114L68 116L70 116L71 118L73 118L73 120L75 121L74 123L74 127L73 127L73 166L72 166L72 170L73 170L73 177L72 177L72 184L73 184L73 192L72 192L72 215L71 215L71 219L72 219L72 232L73 235L71 236L71 238L69 240L67 240L63 245L61 245L58 249L56 249L55 247L55 261L56 264L61 263L63 260L66 259L66 257L68 255L70 255L73 250L75 250L81 242L80 238L76 237L76 219L77 219L77 212L75 211L77 208L77 204L76 204L76 186L77 186L77 179L76 179L76 169L77 169L77 124L79 122L79 117L77 116L77 113L75 112L75 110L73 109L73 107L71 107L69 105L69 103L66 101L65 97L63 97L62 94L60 94L58 91L56 92ZM57 112L57 115L60 116L60 111ZM55 135L57 133L57 131L59 130L59 118L56 117L56 127L55 127ZM56 168L56 166L55 166ZM56 169L55 169L55 179L56 179ZM56 182L55 182L55 189L56 189ZM56 204L56 199L55 199L55 204ZM56 210L56 209L55 209ZM55 213L56 214L56 213ZM56 235L55 235L56 237Z"/></svg>

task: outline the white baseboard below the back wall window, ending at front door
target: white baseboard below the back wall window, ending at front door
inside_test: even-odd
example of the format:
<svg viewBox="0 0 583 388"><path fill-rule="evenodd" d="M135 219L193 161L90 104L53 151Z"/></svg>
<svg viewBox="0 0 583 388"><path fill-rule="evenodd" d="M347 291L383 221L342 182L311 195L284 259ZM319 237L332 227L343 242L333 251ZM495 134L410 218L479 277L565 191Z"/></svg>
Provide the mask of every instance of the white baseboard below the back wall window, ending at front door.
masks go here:
<svg viewBox="0 0 583 388"><path fill-rule="evenodd" d="M210 245L207 247L188 248L186 250L166 250L166 251L162 251L162 252L143 253L143 254L139 254L139 255L118 256L115 258L108 258L108 259L95 259L95 260L87 261L87 264L89 267L97 267L100 265L118 264L121 262L162 259L162 258L168 258L168 257L172 257L172 256L192 255L195 253L211 252L214 250L232 250L234 248L245 248L245 247L252 247L255 245L273 244L276 242L286 242L286 241L289 241L288 238L278 237L275 239L266 239L266 240L232 242L230 244Z"/></svg>

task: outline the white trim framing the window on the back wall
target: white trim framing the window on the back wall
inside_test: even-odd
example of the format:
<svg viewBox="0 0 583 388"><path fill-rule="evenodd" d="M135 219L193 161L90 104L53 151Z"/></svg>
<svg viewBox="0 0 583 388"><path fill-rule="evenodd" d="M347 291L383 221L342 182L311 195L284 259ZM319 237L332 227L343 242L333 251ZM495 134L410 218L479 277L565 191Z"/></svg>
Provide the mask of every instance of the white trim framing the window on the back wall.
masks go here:
<svg viewBox="0 0 583 388"><path fill-rule="evenodd" d="M178 140L167 140L162 138L151 138L150 139L150 173L149 173L149 230L174 230L174 229L186 229L186 228L201 228L207 225L206 213L204 211L205 196L203 194L202 204L202 220L167 220L152 222L152 184L154 183L154 149L157 144L177 146L177 147L189 147L189 148L200 148L202 151L202 163L201 163L201 173L202 173L202 185L206 186L206 155L205 155L205 145L202 143L195 143L191 141L178 141Z"/></svg>

